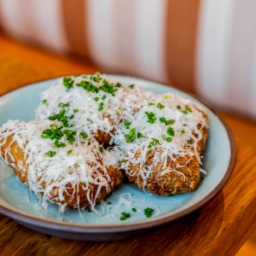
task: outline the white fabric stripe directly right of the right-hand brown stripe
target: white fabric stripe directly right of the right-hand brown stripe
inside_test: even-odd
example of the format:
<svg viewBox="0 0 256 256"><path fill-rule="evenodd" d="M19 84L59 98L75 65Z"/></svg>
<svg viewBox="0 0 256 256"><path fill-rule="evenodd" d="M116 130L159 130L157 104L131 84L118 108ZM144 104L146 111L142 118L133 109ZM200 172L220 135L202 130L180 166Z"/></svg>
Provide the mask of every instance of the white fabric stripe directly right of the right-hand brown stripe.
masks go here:
<svg viewBox="0 0 256 256"><path fill-rule="evenodd" d="M208 102L224 106L229 94L228 71L233 0L201 2L196 80L197 92Z"/></svg>

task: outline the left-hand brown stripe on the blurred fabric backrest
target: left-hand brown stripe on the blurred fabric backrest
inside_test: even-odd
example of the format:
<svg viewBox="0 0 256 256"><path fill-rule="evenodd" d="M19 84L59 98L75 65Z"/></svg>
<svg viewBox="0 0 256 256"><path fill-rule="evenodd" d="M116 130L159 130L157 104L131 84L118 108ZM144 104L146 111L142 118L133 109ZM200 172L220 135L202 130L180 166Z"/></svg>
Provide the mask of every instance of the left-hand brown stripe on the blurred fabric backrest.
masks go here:
<svg viewBox="0 0 256 256"><path fill-rule="evenodd" d="M76 54L88 57L87 27L85 24L86 2L86 0L62 0L62 14L70 49Z"/></svg>

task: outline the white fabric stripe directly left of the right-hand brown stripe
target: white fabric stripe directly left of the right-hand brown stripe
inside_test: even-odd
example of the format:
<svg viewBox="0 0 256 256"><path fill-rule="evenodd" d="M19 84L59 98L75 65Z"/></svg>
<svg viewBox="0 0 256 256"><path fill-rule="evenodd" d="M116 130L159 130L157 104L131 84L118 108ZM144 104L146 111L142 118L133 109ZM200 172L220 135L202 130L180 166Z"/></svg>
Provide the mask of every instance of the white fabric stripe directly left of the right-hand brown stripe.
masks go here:
<svg viewBox="0 0 256 256"><path fill-rule="evenodd" d="M165 58L166 0L139 0L134 31L133 55L137 75L146 79L167 82Z"/></svg>

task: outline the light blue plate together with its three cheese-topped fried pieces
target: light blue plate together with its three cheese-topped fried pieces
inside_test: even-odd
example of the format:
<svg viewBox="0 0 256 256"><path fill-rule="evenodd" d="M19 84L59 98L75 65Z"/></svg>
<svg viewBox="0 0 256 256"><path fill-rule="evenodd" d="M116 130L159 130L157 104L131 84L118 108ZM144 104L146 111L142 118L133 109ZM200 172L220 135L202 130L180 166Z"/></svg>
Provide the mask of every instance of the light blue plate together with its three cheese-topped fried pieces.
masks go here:
<svg viewBox="0 0 256 256"><path fill-rule="evenodd" d="M0 97L0 212L75 240L143 234L203 206L228 181L236 142L183 90L74 75Z"/></svg>

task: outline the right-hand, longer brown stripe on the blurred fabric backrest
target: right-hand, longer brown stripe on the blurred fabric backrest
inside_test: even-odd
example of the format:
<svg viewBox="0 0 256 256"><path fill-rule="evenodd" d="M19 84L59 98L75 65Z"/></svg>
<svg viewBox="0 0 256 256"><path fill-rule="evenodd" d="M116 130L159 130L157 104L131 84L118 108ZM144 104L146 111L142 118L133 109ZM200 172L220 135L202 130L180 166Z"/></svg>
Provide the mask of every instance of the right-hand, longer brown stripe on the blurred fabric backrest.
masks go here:
<svg viewBox="0 0 256 256"><path fill-rule="evenodd" d="M195 45L201 0L169 0L166 8L166 68L172 84L194 90Z"/></svg>

